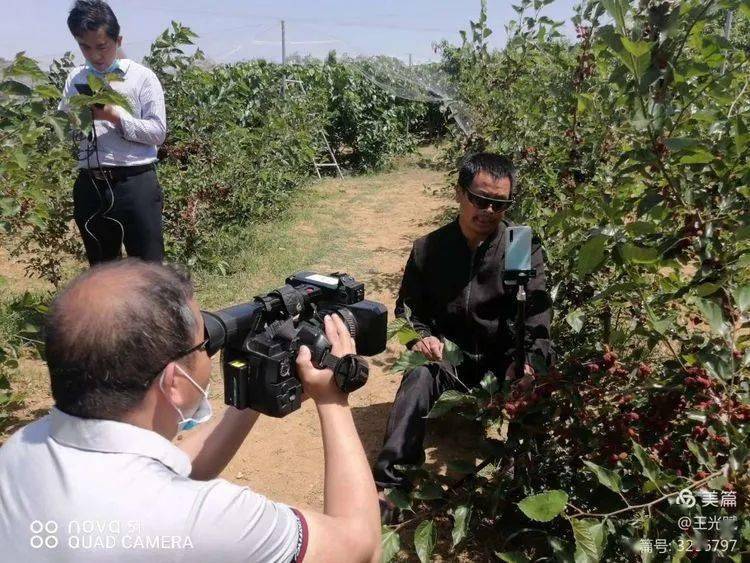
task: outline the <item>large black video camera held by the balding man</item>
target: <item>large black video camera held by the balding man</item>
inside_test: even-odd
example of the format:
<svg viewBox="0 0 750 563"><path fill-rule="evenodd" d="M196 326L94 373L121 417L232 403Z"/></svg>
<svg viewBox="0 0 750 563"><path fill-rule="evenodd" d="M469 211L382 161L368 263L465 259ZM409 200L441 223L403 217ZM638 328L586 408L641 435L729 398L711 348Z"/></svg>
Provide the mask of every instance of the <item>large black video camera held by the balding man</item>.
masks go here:
<svg viewBox="0 0 750 563"><path fill-rule="evenodd" d="M364 284L347 274L299 272L250 303L201 313L209 355L222 350L224 402L275 417L300 407L302 384L295 360L302 345L310 348L313 365L333 370L342 391L367 382L365 360L331 354L323 329L326 315L341 317L359 354L379 354L387 340L385 306L366 300Z"/></svg>

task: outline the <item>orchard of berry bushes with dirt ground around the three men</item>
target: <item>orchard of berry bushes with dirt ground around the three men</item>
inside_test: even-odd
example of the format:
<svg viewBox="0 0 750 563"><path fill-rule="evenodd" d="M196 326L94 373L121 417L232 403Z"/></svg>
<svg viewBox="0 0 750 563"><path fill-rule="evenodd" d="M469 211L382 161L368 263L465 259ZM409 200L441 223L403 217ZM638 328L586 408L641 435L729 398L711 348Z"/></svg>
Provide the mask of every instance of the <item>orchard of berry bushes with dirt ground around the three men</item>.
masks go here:
<svg viewBox="0 0 750 563"><path fill-rule="evenodd" d="M312 269L353 274L392 317L412 241L455 211L461 158L512 157L508 215L543 243L556 360L530 354L523 384L490 371L440 398L427 464L406 468L415 490L390 493L405 516L383 527L384 560L740 563L750 8L587 0L566 35L542 14L551 1L519 0L502 48L482 1L460 43L436 43L439 62L414 66L333 51L211 66L173 23L144 59L169 113L167 256L191 269L207 309ZM41 69L19 54L0 77L0 443L50 407L39 323L51 292L84 267L70 133L90 125L89 104L118 101L92 81L78 113L61 116L71 65ZM312 162L333 157L344 177L315 179ZM351 399L370 461L399 371L427 362L398 343L414 334L408 321L390 328ZM218 369L212 378L218 411ZM223 476L320 508L319 440L311 404L262 418ZM699 527L709 519L715 529Z"/></svg>

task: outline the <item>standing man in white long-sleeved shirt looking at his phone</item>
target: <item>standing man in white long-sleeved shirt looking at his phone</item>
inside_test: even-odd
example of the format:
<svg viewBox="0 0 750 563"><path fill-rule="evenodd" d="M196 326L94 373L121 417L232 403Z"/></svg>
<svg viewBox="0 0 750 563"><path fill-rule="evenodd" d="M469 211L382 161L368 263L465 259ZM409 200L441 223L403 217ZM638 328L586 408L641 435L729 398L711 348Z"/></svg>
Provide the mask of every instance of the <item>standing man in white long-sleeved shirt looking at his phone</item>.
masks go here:
<svg viewBox="0 0 750 563"><path fill-rule="evenodd" d="M68 28L86 64L68 76L60 109L67 111L69 98L85 93L93 74L114 75L110 86L132 110L93 107L94 130L81 139L73 201L89 263L119 258L123 244L128 256L161 262L163 202L156 154L167 133L162 86L150 69L118 58L120 25L106 2L76 0Z"/></svg>

